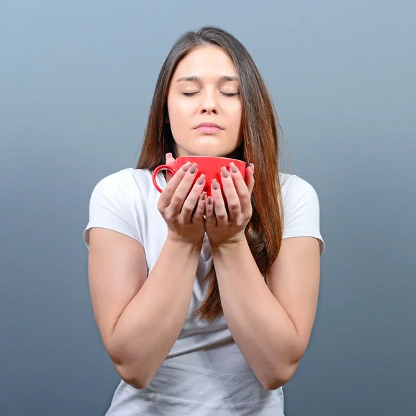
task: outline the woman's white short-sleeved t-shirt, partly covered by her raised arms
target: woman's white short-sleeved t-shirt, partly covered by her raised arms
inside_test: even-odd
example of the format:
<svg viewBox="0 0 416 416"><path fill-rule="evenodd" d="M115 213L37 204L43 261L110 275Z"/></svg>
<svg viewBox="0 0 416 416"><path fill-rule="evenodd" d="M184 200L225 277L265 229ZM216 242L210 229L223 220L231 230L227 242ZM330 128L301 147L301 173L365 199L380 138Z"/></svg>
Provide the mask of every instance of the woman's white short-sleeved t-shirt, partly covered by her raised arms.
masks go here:
<svg viewBox="0 0 416 416"><path fill-rule="evenodd" d="M283 238L320 234L320 209L315 189L297 175L279 173L284 204ZM157 182L163 189L162 173ZM167 225L157 210L160 193L152 172L126 168L98 182L89 202L89 229L112 229L141 243L148 273L159 257L167 236ZM107 416L282 416L282 388L263 388L234 342L224 315L215 322L191 317L207 295L203 279L211 265L205 235L193 285L193 295L184 327L148 388L137 390L121 381Z"/></svg>

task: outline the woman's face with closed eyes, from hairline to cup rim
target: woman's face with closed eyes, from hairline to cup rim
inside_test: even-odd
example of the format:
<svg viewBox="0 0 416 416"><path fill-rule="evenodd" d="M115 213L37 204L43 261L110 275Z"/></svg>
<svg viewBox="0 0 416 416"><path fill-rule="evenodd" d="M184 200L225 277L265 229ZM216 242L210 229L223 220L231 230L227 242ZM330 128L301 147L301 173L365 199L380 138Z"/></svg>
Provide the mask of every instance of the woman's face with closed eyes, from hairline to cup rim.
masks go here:
<svg viewBox="0 0 416 416"><path fill-rule="evenodd" d="M191 51L177 65L168 92L176 155L231 155L242 141L242 107L229 55L216 46Z"/></svg>

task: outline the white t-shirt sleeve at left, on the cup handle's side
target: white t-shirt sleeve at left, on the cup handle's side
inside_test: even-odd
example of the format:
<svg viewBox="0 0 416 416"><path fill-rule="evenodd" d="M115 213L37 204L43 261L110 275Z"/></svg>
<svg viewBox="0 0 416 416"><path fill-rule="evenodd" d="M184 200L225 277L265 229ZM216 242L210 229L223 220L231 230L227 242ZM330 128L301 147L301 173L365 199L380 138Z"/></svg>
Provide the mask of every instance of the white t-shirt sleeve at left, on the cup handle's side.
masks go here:
<svg viewBox="0 0 416 416"><path fill-rule="evenodd" d="M89 221L84 231L84 241L89 248L89 230L98 227L111 229L139 241L141 237L133 215L131 196L125 189L128 178L123 171L102 179L92 191L89 200ZM130 197L130 198L129 198Z"/></svg>

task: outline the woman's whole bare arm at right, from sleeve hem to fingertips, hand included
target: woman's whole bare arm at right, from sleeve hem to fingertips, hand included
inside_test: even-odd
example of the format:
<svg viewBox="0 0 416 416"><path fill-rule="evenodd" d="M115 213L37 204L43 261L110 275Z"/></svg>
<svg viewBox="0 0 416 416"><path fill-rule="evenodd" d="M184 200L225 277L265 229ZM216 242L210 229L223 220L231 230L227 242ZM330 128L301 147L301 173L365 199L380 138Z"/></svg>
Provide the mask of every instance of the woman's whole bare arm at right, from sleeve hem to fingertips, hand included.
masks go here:
<svg viewBox="0 0 416 416"><path fill-rule="evenodd" d="M254 166L246 169L247 185L230 167L221 175L228 211L217 184L211 186L214 207L207 201L212 260L229 331L263 387L275 390L291 379L309 343L318 303L319 243L310 236L283 239L265 281L244 234L252 216Z"/></svg>

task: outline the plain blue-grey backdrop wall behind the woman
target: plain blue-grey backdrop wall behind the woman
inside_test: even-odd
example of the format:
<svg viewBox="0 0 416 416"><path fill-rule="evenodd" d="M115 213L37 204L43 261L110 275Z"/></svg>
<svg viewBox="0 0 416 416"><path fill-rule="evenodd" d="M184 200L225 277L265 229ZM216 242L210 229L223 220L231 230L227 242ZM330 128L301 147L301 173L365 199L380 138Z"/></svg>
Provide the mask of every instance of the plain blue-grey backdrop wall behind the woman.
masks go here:
<svg viewBox="0 0 416 416"><path fill-rule="evenodd" d="M94 322L83 229L135 166L184 31L248 48L313 184L327 251L288 416L415 415L414 1L1 1L0 415L103 415L119 378Z"/></svg>

